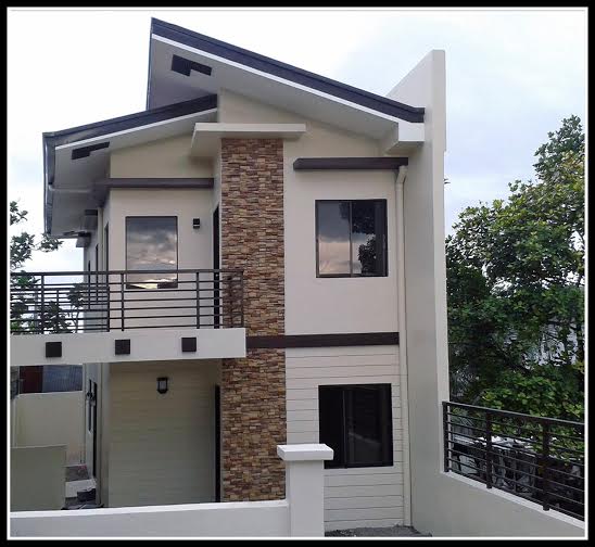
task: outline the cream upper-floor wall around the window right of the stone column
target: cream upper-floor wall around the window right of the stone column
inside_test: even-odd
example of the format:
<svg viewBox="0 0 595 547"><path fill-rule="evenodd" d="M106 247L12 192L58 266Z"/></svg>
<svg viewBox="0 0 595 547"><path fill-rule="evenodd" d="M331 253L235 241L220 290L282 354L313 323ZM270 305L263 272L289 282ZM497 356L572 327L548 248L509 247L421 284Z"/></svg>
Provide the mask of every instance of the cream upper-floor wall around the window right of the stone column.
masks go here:
<svg viewBox="0 0 595 547"><path fill-rule="evenodd" d="M293 170L296 157L377 156L378 142L229 91L219 96L219 122L306 125L304 136L283 143L286 333L398 330L394 174ZM316 278L315 201L369 199L387 200L388 277Z"/></svg>

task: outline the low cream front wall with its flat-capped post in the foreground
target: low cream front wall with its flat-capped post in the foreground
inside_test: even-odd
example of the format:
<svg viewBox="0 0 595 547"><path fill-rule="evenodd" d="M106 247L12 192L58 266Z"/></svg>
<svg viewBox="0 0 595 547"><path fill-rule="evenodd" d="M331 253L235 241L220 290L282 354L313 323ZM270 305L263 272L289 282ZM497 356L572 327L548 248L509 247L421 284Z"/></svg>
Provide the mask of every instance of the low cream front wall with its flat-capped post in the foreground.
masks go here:
<svg viewBox="0 0 595 547"><path fill-rule="evenodd" d="M11 537L321 537L326 445L280 445L287 498L11 512Z"/></svg>

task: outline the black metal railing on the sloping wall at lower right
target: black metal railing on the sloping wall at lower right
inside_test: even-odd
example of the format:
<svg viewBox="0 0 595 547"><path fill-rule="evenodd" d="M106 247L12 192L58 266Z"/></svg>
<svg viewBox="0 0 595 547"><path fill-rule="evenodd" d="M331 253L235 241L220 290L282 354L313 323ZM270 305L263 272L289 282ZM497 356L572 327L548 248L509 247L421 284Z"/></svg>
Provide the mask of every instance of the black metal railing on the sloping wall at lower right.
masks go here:
<svg viewBox="0 0 595 547"><path fill-rule="evenodd" d="M584 520L584 424L442 403L444 471Z"/></svg>

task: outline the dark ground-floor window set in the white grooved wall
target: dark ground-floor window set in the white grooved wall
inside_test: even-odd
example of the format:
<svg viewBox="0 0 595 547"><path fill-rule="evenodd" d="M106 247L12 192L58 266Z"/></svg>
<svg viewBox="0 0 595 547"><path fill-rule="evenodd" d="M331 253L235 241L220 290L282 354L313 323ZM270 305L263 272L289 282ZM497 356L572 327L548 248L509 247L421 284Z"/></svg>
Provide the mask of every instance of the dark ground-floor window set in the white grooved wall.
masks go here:
<svg viewBox="0 0 595 547"><path fill-rule="evenodd" d="M319 442L334 450L325 468L393 465L390 384L320 385Z"/></svg>

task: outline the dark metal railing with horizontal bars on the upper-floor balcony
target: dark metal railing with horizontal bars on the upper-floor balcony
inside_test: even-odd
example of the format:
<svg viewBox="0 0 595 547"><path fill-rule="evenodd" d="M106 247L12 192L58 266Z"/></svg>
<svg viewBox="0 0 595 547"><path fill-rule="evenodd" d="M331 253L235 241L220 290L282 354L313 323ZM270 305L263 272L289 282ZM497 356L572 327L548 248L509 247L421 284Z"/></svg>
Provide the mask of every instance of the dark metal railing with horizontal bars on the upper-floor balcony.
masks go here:
<svg viewBox="0 0 595 547"><path fill-rule="evenodd" d="M243 327L243 274L161 269L11 274L11 333Z"/></svg>

